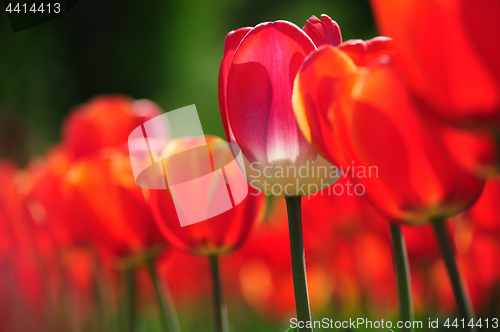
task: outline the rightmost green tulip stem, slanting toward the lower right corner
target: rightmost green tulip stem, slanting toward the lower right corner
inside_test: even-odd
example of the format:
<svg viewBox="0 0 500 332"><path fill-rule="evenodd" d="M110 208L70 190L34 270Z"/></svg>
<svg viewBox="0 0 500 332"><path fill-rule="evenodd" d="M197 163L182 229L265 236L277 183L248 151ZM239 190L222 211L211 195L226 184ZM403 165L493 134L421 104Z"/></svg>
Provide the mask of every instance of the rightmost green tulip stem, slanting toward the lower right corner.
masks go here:
<svg viewBox="0 0 500 332"><path fill-rule="evenodd" d="M468 326L470 320L474 318L474 314L470 306L465 287L462 283L462 280L460 279L457 263L455 261L455 253L448 232L446 230L445 222L445 220L437 220L433 222L434 231L438 239L446 269L448 270L448 276L450 277L453 294L455 295L455 302L457 303L458 307L458 314L460 315L460 317L465 319L465 330L474 331L474 328Z"/></svg>

